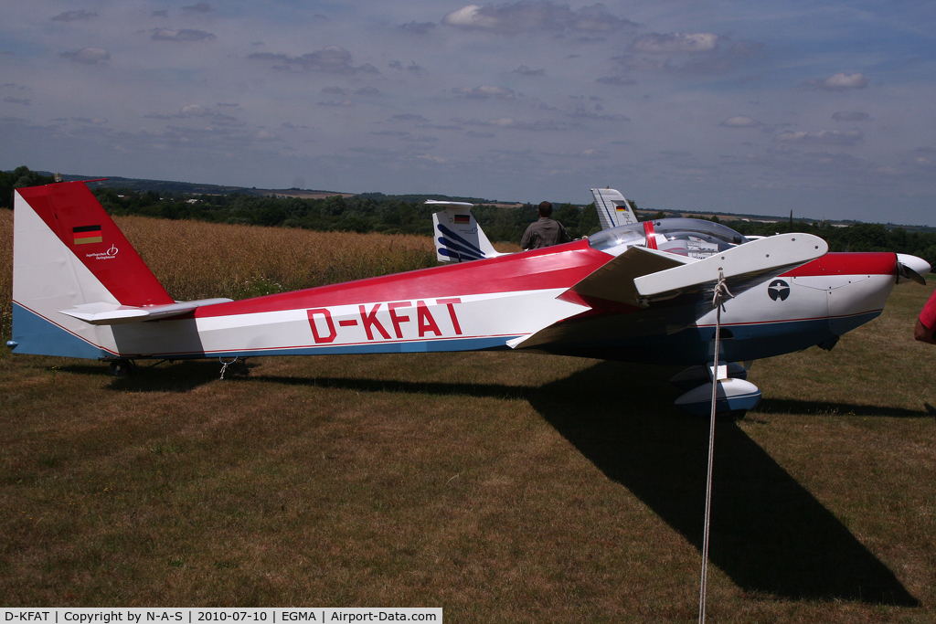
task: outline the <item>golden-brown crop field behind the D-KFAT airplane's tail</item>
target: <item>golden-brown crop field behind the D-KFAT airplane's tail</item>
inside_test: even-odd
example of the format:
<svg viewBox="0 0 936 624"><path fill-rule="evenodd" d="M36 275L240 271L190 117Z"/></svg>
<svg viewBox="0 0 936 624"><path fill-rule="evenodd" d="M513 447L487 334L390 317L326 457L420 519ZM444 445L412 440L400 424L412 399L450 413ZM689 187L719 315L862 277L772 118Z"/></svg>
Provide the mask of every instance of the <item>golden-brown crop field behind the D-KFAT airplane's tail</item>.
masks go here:
<svg viewBox="0 0 936 624"><path fill-rule="evenodd" d="M116 217L170 297L241 299L434 266L426 237ZM13 211L0 210L0 336L10 332Z"/></svg>

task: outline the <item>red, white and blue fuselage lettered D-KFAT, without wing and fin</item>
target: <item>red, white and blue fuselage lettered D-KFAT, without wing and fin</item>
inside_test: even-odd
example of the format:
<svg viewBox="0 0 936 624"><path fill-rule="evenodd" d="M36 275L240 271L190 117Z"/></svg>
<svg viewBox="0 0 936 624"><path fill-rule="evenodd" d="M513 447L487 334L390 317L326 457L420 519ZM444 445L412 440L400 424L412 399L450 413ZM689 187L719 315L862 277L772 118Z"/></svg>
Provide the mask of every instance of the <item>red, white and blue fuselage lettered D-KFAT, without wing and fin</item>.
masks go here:
<svg viewBox="0 0 936 624"><path fill-rule="evenodd" d="M575 298L558 298L611 257L579 240L132 324L89 325L15 302L16 327L46 331L50 340L48 349L14 351L104 359L478 351L509 348L509 341L558 323L575 331L520 348L659 364L710 358L710 306L644 310L617 304L595 310ZM826 254L729 299L722 315L724 358L777 356L829 343L867 323L884 309L896 264L896 254ZM52 307L66 304L56 301ZM68 353L63 329L78 339L68 341Z"/></svg>

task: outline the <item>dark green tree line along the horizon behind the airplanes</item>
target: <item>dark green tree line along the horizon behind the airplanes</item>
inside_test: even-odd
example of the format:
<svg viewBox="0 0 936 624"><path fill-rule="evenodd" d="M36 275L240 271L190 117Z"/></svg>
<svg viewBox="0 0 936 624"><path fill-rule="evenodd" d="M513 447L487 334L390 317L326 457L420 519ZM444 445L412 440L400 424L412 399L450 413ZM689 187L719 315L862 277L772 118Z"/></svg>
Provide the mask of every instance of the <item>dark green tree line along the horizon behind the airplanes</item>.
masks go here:
<svg viewBox="0 0 936 624"><path fill-rule="evenodd" d="M19 167L11 173L0 171L0 206L12 207L13 189L51 183L51 177ZM378 193L358 196L329 196L321 199L256 196L246 193L227 195L186 195L100 187L93 189L101 205L113 215L140 215L159 219L194 219L212 223L300 227L317 231L379 232L432 236L432 212L427 198L473 200L477 222L492 241L519 243L527 225L538 215L533 205L504 208L480 203L474 197L385 196ZM632 207L636 209L634 202ZM663 218L658 212L649 218ZM562 204L553 217L565 226L572 238L589 236L600 229L594 204L584 209ZM718 221L718 217L711 220ZM741 234L769 236L785 232L786 223L731 221L725 225ZM797 222L795 229L814 234L828 242L833 252L897 252L918 255L936 266L936 233L887 228L878 224L855 224L847 227L826 222Z"/></svg>

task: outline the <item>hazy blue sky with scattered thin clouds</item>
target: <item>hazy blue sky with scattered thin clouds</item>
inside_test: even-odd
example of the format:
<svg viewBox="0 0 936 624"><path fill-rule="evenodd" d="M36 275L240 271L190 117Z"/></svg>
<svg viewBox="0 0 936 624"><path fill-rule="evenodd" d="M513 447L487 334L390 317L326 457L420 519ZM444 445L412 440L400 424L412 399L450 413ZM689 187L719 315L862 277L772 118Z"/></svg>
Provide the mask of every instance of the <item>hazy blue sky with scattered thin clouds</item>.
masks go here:
<svg viewBox="0 0 936 624"><path fill-rule="evenodd" d="M3 3L0 168L936 225L931 3Z"/></svg>

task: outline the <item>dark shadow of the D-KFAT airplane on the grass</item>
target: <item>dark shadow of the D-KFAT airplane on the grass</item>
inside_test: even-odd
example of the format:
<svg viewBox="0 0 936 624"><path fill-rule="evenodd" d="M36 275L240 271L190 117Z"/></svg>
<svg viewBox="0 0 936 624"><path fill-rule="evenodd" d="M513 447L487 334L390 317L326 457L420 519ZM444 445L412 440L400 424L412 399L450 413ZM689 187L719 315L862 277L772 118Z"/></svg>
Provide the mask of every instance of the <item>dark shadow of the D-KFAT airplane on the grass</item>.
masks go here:
<svg viewBox="0 0 936 624"><path fill-rule="evenodd" d="M678 394L667 381L672 372L602 362L540 388L339 377L264 379L358 392L527 399L599 470L701 552L709 422L669 404ZM787 414L926 414L811 401L773 400L768 407ZM796 600L919 605L835 515L730 421L716 427L714 484L709 556L739 588Z"/></svg>

